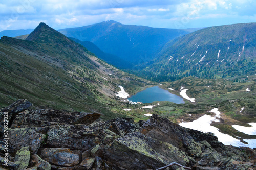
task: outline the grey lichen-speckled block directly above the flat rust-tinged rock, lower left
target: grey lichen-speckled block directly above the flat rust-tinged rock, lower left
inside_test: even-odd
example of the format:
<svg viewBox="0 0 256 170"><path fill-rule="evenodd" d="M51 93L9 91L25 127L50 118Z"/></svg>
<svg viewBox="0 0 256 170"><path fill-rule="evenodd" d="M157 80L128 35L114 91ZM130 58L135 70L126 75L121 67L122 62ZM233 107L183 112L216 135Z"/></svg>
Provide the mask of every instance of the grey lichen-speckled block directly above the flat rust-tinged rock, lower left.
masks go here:
<svg viewBox="0 0 256 170"><path fill-rule="evenodd" d="M52 148L87 150L96 145L99 132L99 128L86 125L51 126L47 130L47 144Z"/></svg>

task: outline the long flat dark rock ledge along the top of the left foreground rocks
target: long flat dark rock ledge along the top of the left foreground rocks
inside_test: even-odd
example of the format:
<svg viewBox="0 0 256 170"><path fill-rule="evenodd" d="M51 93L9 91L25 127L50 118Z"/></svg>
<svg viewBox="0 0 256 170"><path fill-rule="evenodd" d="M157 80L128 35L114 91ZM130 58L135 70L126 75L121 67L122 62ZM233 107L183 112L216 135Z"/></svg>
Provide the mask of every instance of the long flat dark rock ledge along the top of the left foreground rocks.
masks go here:
<svg viewBox="0 0 256 170"><path fill-rule="evenodd" d="M82 124L89 125L100 117L99 113L65 112L53 109L32 110L29 113L20 114L14 127L40 127L59 124Z"/></svg>

